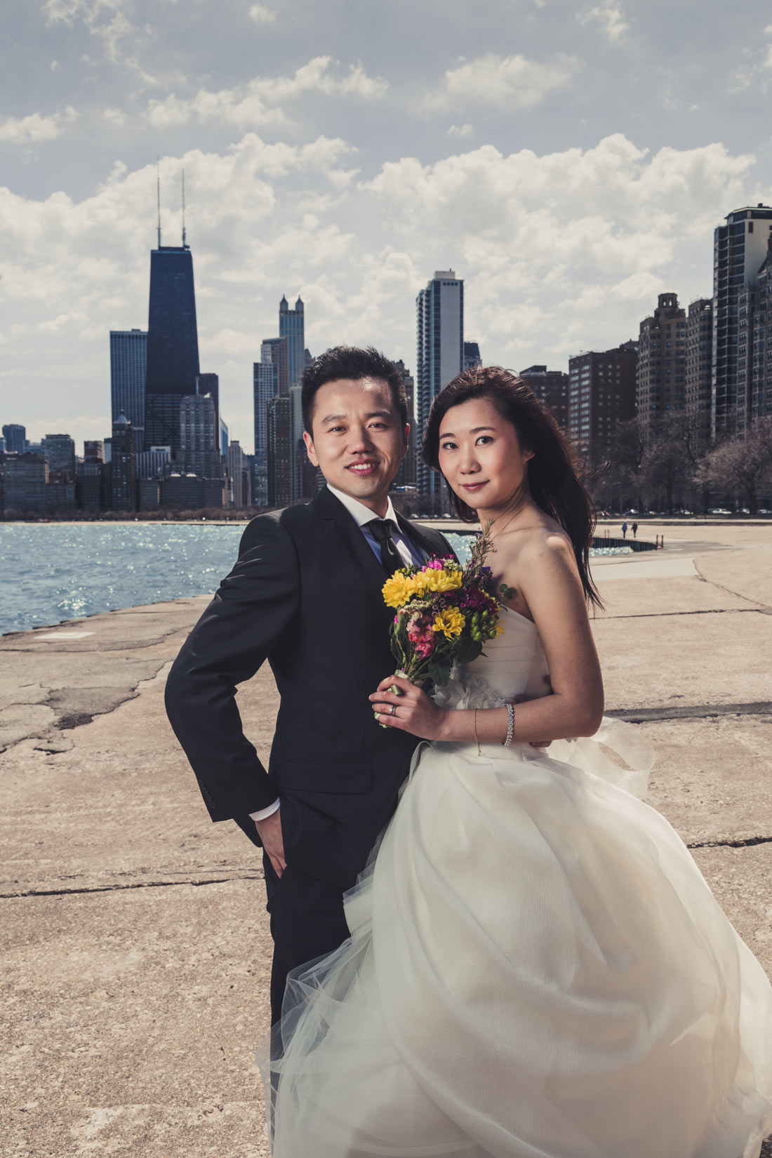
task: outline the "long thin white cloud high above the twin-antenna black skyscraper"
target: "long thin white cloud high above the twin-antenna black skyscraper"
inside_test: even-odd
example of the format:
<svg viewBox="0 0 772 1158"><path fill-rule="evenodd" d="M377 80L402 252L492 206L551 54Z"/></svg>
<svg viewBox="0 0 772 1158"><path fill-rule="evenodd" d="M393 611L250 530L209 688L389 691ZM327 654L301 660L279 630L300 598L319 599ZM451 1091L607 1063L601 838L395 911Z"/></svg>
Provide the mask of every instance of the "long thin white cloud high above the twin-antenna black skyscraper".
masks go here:
<svg viewBox="0 0 772 1158"><path fill-rule="evenodd" d="M240 88L212 93L200 89L196 96L184 98L170 94L163 100L150 101L146 119L156 129L169 129L190 120L219 120L234 125L281 125L286 116L279 107L308 93L325 96L358 96L373 100L381 96L385 81L368 76L361 65L352 65L343 76L334 75L331 57L315 57L297 68L293 76L256 76Z"/></svg>

